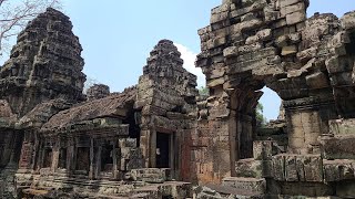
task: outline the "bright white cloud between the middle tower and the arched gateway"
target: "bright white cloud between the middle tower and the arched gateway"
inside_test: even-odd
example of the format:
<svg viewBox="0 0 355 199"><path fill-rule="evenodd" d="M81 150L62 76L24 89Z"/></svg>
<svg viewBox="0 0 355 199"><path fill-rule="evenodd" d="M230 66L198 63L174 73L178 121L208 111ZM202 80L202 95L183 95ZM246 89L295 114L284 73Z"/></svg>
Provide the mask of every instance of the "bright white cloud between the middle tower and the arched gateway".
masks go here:
<svg viewBox="0 0 355 199"><path fill-rule="evenodd" d="M185 45L174 43L178 48L179 52L181 52L181 59L184 60L184 67L194 75L197 76L197 87L205 86L205 75L202 73L202 70L200 67L195 67L195 60L197 53L192 52L189 48Z"/></svg>

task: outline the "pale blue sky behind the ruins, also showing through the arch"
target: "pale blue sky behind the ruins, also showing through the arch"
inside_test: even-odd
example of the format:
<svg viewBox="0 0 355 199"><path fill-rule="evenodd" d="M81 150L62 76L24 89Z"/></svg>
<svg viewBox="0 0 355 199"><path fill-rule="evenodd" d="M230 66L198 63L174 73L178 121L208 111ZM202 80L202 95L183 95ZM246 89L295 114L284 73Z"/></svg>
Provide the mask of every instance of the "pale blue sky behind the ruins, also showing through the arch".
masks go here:
<svg viewBox="0 0 355 199"><path fill-rule="evenodd" d="M354 0L311 0L308 15L333 12L342 17L355 10ZM84 73L106 84L111 92L138 83L150 51L161 39L174 41L184 66L194 67L200 52L197 30L209 25L211 9L222 0L63 0L63 11L71 18L74 33L83 46ZM267 118L276 118L278 96L266 90L261 100Z"/></svg>

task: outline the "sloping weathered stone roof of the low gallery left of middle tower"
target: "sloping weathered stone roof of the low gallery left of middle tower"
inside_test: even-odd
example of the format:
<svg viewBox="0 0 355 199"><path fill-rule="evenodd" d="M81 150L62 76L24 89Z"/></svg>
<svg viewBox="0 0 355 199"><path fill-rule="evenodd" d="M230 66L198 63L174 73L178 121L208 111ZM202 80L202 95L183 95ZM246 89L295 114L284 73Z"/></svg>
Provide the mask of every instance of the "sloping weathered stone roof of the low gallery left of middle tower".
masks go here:
<svg viewBox="0 0 355 199"><path fill-rule="evenodd" d="M78 104L61 111L42 126L42 130L65 128L84 121L103 117L125 117L129 104L134 104L136 87L125 88L122 93L113 93L104 98Z"/></svg>

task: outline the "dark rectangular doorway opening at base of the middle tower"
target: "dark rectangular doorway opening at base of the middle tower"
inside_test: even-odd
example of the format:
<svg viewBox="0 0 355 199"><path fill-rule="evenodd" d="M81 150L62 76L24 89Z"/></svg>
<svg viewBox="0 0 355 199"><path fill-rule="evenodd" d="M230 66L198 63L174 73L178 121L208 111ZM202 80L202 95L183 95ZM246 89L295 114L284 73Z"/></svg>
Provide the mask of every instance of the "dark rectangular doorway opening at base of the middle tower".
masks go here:
<svg viewBox="0 0 355 199"><path fill-rule="evenodd" d="M156 133L156 167L170 168L171 134Z"/></svg>

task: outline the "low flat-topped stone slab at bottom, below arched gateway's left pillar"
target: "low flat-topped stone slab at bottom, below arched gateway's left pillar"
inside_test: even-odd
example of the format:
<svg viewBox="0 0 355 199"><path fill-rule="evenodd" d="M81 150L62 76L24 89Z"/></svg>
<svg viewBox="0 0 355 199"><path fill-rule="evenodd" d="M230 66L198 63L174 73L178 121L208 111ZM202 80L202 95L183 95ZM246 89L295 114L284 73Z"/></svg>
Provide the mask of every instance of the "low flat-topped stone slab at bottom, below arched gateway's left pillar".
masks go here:
<svg viewBox="0 0 355 199"><path fill-rule="evenodd" d="M265 178L227 177L222 180L222 186L233 188L241 196L257 196L266 193Z"/></svg>

